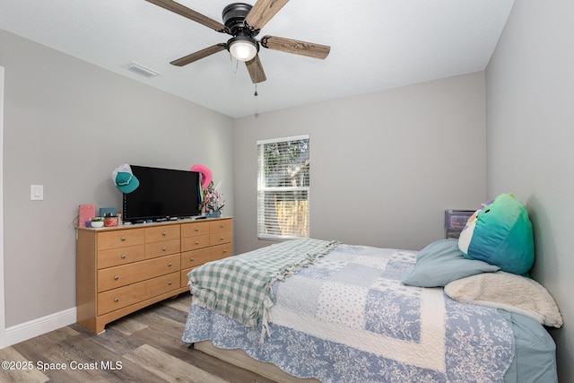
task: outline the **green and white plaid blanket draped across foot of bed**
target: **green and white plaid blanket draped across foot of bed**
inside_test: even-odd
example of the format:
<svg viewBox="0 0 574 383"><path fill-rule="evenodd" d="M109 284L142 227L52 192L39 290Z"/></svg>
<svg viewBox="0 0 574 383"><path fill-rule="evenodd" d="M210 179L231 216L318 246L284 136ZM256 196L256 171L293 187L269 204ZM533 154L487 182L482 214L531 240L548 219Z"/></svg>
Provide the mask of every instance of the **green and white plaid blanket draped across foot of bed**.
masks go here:
<svg viewBox="0 0 574 383"><path fill-rule="evenodd" d="M268 335L271 285L324 257L340 242L292 239L266 248L201 265L187 274L194 299L207 309L257 328Z"/></svg>

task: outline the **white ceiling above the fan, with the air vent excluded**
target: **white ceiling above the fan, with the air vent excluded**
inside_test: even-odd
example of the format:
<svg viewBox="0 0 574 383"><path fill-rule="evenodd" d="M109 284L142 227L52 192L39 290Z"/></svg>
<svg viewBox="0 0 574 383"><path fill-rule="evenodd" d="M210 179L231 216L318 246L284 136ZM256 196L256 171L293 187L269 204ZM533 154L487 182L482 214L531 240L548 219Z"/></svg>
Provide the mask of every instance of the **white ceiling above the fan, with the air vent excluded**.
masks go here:
<svg viewBox="0 0 574 383"><path fill-rule="evenodd" d="M178 2L222 22L232 1ZM170 65L230 36L144 0L0 0L0 29L238 118L482 71L513 3L291 0L259 37L328 45L331 53L318 60L261 48L267 81L257 97L245 65L227 51ZM122 66L131 62L161 75L133 74Z"/></svg>

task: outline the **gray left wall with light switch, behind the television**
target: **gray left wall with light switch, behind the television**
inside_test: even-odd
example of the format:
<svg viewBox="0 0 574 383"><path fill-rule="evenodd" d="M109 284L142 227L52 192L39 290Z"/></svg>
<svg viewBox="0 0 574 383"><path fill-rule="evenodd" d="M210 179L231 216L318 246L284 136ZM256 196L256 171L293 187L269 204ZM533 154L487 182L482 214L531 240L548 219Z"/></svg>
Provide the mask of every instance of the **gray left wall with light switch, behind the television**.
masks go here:
<svg viewBox="0 0 574 383"><path fill-rule="evenodd" d="M6 326L75 307L78 205L120 208L120 163L202 163L232 196L232 118L2 30L0 65Z"/></svg>

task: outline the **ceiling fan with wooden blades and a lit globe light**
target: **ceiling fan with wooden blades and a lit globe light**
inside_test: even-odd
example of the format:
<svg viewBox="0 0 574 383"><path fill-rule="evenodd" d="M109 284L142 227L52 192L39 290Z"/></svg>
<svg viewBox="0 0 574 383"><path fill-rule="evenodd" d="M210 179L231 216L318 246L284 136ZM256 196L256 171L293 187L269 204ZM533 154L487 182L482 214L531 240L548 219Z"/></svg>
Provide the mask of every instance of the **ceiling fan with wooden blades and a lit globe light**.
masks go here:
<svg viewBox="0 0 574 383"><path fill-rule="evenodd" d="M229 4L223 8L223 24L171 0L146 1L159 5L173 13L178 13L194 22L199 22L208 28L232 36L227 42L215 44L186 57L178 58L172 61L171 65L183 66L191 64L200 58L208 57L227 49L232 57L245 62L253 83L262 83L266 80L266 77L258 56L260 46L320 59L326 58L331 50L326 45L275 36L264 36L261 39L256 39L259 31L289 0L257 0L257 3L253 6L245 3Z"/></svg>

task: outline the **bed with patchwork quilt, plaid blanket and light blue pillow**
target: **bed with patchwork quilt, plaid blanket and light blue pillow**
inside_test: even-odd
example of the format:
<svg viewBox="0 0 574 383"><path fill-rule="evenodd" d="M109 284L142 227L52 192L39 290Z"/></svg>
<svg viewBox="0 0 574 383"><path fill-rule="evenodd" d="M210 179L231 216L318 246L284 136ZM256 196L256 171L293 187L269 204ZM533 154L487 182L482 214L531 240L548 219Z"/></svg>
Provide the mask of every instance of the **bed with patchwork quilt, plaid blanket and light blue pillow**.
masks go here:
<svg viewBox="0 0 574 383"><path fill-rule="evenodd" d="M255 276L242 279L246 271ZM524 276L462 257L456 239L418 252L295 239L188 277L184 343L242 350L251 361L241 367L262 375L260 362L322 382L558 381L544 328L561 326L552 297ZM519 286L511 298L540 299L500 298L499 282ZM494 293L476 292L484 283Z"/></svg>

